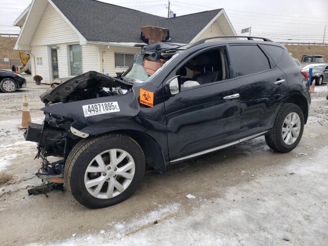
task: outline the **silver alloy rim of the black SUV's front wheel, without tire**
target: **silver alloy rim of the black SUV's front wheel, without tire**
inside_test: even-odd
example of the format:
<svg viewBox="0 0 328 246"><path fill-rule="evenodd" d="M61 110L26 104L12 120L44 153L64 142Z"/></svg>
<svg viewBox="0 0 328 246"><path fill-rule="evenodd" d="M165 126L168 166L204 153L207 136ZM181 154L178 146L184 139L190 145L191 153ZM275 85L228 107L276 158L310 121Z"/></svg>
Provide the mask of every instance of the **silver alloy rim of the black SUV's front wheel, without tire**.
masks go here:
<svg viewBox="0 0 328 246"><path fill-rule="evenodd" d="M87 191L99 199L110 199L124 192L132 182L135 163L125 150L110 149L89 163L84 177Z"/></svg>

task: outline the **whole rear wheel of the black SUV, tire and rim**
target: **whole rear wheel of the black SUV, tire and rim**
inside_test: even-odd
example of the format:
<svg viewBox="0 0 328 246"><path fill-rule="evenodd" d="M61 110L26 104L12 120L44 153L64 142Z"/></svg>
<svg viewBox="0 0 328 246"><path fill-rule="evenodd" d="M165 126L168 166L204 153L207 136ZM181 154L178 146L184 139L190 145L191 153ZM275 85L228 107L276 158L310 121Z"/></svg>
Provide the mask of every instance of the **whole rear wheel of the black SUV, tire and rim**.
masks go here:
<svg viewBox="0 0 328 246"><path fill-rule="evenodd" d="M285 104L279 111L273 128L265 134L268 146L281 153L296 148L304 130L303 112L295 104Z"/></svg>

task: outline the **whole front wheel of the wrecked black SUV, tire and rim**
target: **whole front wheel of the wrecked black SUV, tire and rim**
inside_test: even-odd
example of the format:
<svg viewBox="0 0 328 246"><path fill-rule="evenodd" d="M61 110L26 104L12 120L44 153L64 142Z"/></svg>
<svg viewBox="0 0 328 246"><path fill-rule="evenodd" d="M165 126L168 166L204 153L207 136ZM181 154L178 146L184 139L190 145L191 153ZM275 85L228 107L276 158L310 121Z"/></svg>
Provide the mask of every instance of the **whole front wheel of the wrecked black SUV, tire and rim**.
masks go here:
<svg viewBox="0 0 328 246"><path fill-rule="evenodd" d="M129 136L107 134L83 139L70 152L65 185L75 199L91 209L126 200L140 185L145 156Z"/></svg>

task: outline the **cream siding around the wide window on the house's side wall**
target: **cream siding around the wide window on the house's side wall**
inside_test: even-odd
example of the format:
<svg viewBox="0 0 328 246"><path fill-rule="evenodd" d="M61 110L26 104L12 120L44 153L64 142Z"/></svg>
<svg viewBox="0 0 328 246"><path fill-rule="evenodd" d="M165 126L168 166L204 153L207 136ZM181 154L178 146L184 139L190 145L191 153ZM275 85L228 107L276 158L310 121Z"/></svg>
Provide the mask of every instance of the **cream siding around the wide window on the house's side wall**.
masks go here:
<svg viewBox="0 0 328 246"><path fill-rule="evenodd" d="M105 52L105 74L110 76L116 76L116 72L124 72L128 68L115 68L115 52L117 53L127 53L136 55L140 48L133 47L115 47L111 46L106 50L106 46L99 47L99 61L100 61L100 72L103 73L103 52Z"/></svg>

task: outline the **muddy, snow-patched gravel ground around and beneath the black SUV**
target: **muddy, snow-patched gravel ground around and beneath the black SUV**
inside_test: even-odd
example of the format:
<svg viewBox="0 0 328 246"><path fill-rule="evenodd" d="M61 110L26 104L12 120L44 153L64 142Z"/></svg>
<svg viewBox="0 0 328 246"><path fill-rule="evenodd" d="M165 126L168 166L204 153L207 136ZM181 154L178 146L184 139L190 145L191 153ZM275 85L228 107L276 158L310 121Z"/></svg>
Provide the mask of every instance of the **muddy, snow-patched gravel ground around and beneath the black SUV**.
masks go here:
<svg viewBox="0 0 328 246"><path fill-rule="evenodd" d="M328 241L328 94L312 95L299 146L279 154L263 137L147 173L116 206L89 210L68 192L27 196L36 145L20 122L23 95L42 122L46 87L0 93L0 245L325 245ZM186 196L190 194L191 199ZM195 198L193 198L195 197Z"/></svg>

